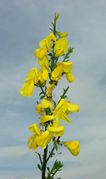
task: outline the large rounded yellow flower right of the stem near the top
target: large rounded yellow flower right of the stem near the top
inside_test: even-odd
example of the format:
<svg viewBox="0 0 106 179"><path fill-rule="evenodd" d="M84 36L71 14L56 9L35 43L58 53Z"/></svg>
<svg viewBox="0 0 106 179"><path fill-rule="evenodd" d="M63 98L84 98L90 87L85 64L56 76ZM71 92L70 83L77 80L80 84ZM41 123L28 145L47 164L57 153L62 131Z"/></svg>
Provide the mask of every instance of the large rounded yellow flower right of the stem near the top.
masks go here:
<svg viewBox="0 0 106 179"><path fill-rule="evenodd" d="M54 53L55 55L62 56L68 50L68 41L66 38L60 38L55 42Z"/></svg>

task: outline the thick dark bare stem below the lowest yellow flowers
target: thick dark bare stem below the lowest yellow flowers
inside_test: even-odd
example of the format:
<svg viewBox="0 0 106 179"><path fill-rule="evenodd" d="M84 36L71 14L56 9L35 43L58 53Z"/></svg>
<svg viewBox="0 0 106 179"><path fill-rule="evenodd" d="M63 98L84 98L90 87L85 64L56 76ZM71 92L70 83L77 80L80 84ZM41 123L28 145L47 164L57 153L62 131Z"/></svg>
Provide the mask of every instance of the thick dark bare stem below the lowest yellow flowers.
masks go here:
<svg viewBox="0 0 106 179"><path fill-rule="evenodd" d="M42 179L46 179L47 151L48 151L48 146L44 149L44 154L43 154Z"/></svg>

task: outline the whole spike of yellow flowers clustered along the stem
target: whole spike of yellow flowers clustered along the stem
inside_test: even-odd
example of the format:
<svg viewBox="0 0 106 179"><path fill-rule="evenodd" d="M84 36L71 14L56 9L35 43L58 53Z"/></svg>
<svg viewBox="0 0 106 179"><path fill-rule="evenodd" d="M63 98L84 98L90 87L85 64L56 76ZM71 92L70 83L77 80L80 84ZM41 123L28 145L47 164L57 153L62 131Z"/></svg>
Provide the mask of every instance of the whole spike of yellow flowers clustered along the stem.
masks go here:
<svg viewBox="0 0 106 179"><path fill-rule="evenodd" d="M28 139L30 149L42 147L45 149L51 141L56 141L63 136L65 128L61 125L61 120L70 122L69 114L79 111L79 105L71 103L65 98L65 93L58 102L54 103L53 90L58 85L63 75L69 83L74 81L72 73L72 61L69 54L67 32L57 32L54 30L39 42L39 48L34 51L34 56L38 59L39 69L34 67L26 75L25 82L20 90L22 96L32 96L35 86L41 89L40 101L37 102L36 112L40 115L38 124L29 126L32 133ZM61 58L59 58L61 57ZM63 60L61 60L63 58ZM80 152L78 141L60 142L74 156Z"/></svg>

